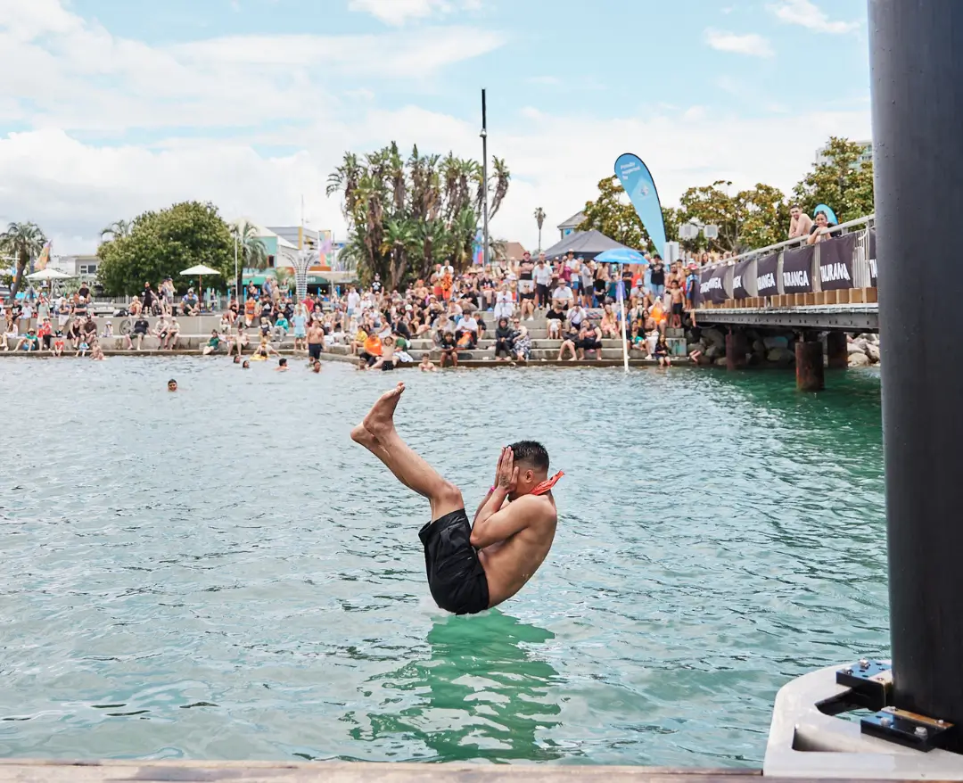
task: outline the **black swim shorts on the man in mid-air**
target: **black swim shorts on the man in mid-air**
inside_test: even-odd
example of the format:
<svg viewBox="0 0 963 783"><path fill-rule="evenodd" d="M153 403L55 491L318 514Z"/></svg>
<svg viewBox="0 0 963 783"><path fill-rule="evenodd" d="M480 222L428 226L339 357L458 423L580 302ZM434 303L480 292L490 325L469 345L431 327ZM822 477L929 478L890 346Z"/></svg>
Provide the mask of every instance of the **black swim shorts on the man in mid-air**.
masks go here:
<svg viewBox="0 0 963 783"><path fill-rule="evenodd" d="M418 534L425 545L431 597L453 614L476 614L488 608L488 578L471 535L465 509L429 522Z"/></svg>

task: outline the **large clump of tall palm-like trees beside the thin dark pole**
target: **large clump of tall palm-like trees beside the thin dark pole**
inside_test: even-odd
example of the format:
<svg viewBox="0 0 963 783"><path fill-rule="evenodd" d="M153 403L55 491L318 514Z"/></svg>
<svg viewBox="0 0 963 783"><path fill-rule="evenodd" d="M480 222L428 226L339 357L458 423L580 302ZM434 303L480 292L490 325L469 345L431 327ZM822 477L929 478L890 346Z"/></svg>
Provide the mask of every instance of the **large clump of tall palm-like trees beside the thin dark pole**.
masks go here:
<svg viewBox="0 0 963 783"><path fill-rule="evenodd" d="M504 160L493 159L488 180L491 218L508 194ZM445 259L457 271L471 263L484 199L478 161L417 146L404 160L395 143L360 158L348 152L327 180L327 195L336 193L350 229L340 257L362 281L379 274L395 289Z"/></svg>

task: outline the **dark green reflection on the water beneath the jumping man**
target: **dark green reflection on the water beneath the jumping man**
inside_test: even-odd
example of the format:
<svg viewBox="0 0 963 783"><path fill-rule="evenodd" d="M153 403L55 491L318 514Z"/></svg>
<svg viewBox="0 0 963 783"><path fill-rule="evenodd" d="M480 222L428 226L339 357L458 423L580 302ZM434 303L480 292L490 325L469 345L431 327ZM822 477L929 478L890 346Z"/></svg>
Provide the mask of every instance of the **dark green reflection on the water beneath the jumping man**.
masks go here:
<svg viewBox="0 0 963 783"><path fill-rule="evenodd" d="M548 639L551 632L498 610L436 622L428 660L372 678L385 692L414 693L418 702L398 712L346 714L355 724L351 738L417 737L433 751L425 761L466 751L491 761L559 758L543 734L559 723L560 707L550 700L559 673L535 657Z"/></svg>

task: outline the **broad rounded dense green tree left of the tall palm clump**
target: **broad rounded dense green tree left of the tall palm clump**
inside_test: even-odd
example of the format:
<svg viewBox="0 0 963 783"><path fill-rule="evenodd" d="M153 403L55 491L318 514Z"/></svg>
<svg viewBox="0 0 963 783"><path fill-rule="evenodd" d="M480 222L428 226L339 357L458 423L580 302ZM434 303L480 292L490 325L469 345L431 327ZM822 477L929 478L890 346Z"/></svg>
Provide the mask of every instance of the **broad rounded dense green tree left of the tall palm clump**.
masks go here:
<svg viewBox="0 0 963 783"><path fill-rule="evenodd" d="M234 246L227 224L213 204L186 201L137 217L129 235L97 248L97 278L111 295L132 294L145 282L180 272L195 264L218 270L225 280L234 274Z"/></svg>

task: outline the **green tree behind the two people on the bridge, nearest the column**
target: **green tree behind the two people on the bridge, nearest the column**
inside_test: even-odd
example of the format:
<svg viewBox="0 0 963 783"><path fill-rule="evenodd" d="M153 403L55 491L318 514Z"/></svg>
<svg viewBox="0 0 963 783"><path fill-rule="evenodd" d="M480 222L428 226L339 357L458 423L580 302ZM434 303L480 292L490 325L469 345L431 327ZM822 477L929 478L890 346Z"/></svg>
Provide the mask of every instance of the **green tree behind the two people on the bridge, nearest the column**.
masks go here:
<svg viewBox="0 0 963 783"><path fill-rule="evenodd" d="M829 138L825 161L816 164L793 190L795 200L807 215L811 216L819 204L830 207L839 222L872 215L872 163L861 164L862 154L862 144Z"/></svg>

